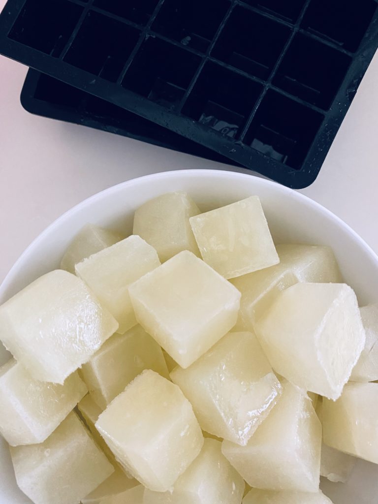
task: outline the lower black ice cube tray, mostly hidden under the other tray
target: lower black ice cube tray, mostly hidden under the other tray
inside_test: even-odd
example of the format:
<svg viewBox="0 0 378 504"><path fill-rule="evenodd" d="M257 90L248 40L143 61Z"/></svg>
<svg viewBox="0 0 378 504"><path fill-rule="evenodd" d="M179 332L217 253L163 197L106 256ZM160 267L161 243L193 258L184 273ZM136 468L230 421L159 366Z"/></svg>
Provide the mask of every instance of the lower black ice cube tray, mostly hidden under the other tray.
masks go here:
<svg viewBox="0 0 378 504"><path fill-rule="evenodd" d="M28 71L21 92L21 103L32 114L81 124L185 154L235 165L229 158L193 140L37 70Z"/></svg>

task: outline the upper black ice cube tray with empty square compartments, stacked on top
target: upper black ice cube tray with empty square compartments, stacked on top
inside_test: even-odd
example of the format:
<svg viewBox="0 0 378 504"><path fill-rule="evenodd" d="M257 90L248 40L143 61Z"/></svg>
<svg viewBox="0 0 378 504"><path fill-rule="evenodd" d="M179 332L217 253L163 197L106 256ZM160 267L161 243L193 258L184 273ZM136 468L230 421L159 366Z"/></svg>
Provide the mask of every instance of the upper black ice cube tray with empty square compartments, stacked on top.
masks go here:
<svg viewBox="0 0 378 504"><path fill-rule="evenodd" d="M0 52L291 187L378 47L378 0L9 0Z"/></svg>

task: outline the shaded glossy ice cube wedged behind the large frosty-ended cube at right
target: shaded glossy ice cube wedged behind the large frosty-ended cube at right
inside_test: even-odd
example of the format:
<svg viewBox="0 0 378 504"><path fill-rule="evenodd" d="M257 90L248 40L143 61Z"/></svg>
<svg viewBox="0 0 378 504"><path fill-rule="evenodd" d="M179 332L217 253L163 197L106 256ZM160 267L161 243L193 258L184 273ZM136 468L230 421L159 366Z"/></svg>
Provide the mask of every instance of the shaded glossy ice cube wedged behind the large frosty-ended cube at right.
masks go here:
<svg viewBox="0 0 378 504"><path fill-rule="evenodd" d="M251 330L282 290L297 282L341 282L330 247L302 244L276 246L280 263L233 279L241 292L237 328Z"/></svg>

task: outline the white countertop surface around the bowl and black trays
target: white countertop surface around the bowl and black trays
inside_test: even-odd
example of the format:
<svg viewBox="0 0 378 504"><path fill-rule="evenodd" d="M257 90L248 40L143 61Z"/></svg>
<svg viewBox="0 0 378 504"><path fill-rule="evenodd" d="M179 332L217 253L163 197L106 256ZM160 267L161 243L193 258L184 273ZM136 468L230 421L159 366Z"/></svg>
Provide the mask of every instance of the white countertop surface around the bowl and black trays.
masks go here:
<svg viewBox="0 0 378 504"><path fill-rule="evenodd" d="M0 0L0 10L5 0ZM83 199L140 175L228 169L105 132L29 114L27 69L0 56L0 282L26 246ZM238 170L247 171L247 170ZM318 179L302 190L352 226L378 253L378 53Z"/></svg>

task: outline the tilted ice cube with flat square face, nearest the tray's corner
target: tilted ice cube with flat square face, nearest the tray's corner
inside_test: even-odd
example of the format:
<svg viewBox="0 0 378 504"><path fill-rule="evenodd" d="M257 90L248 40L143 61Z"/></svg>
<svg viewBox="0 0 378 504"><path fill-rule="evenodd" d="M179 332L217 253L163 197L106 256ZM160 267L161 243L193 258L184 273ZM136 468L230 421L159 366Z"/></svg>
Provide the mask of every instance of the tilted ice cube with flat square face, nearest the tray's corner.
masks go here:
<svg viewBox="0 0 378 504"><path fill-rule="evenodd" d="M190 219L204 261L225 278L279 263L258 196Z"/></svg>

